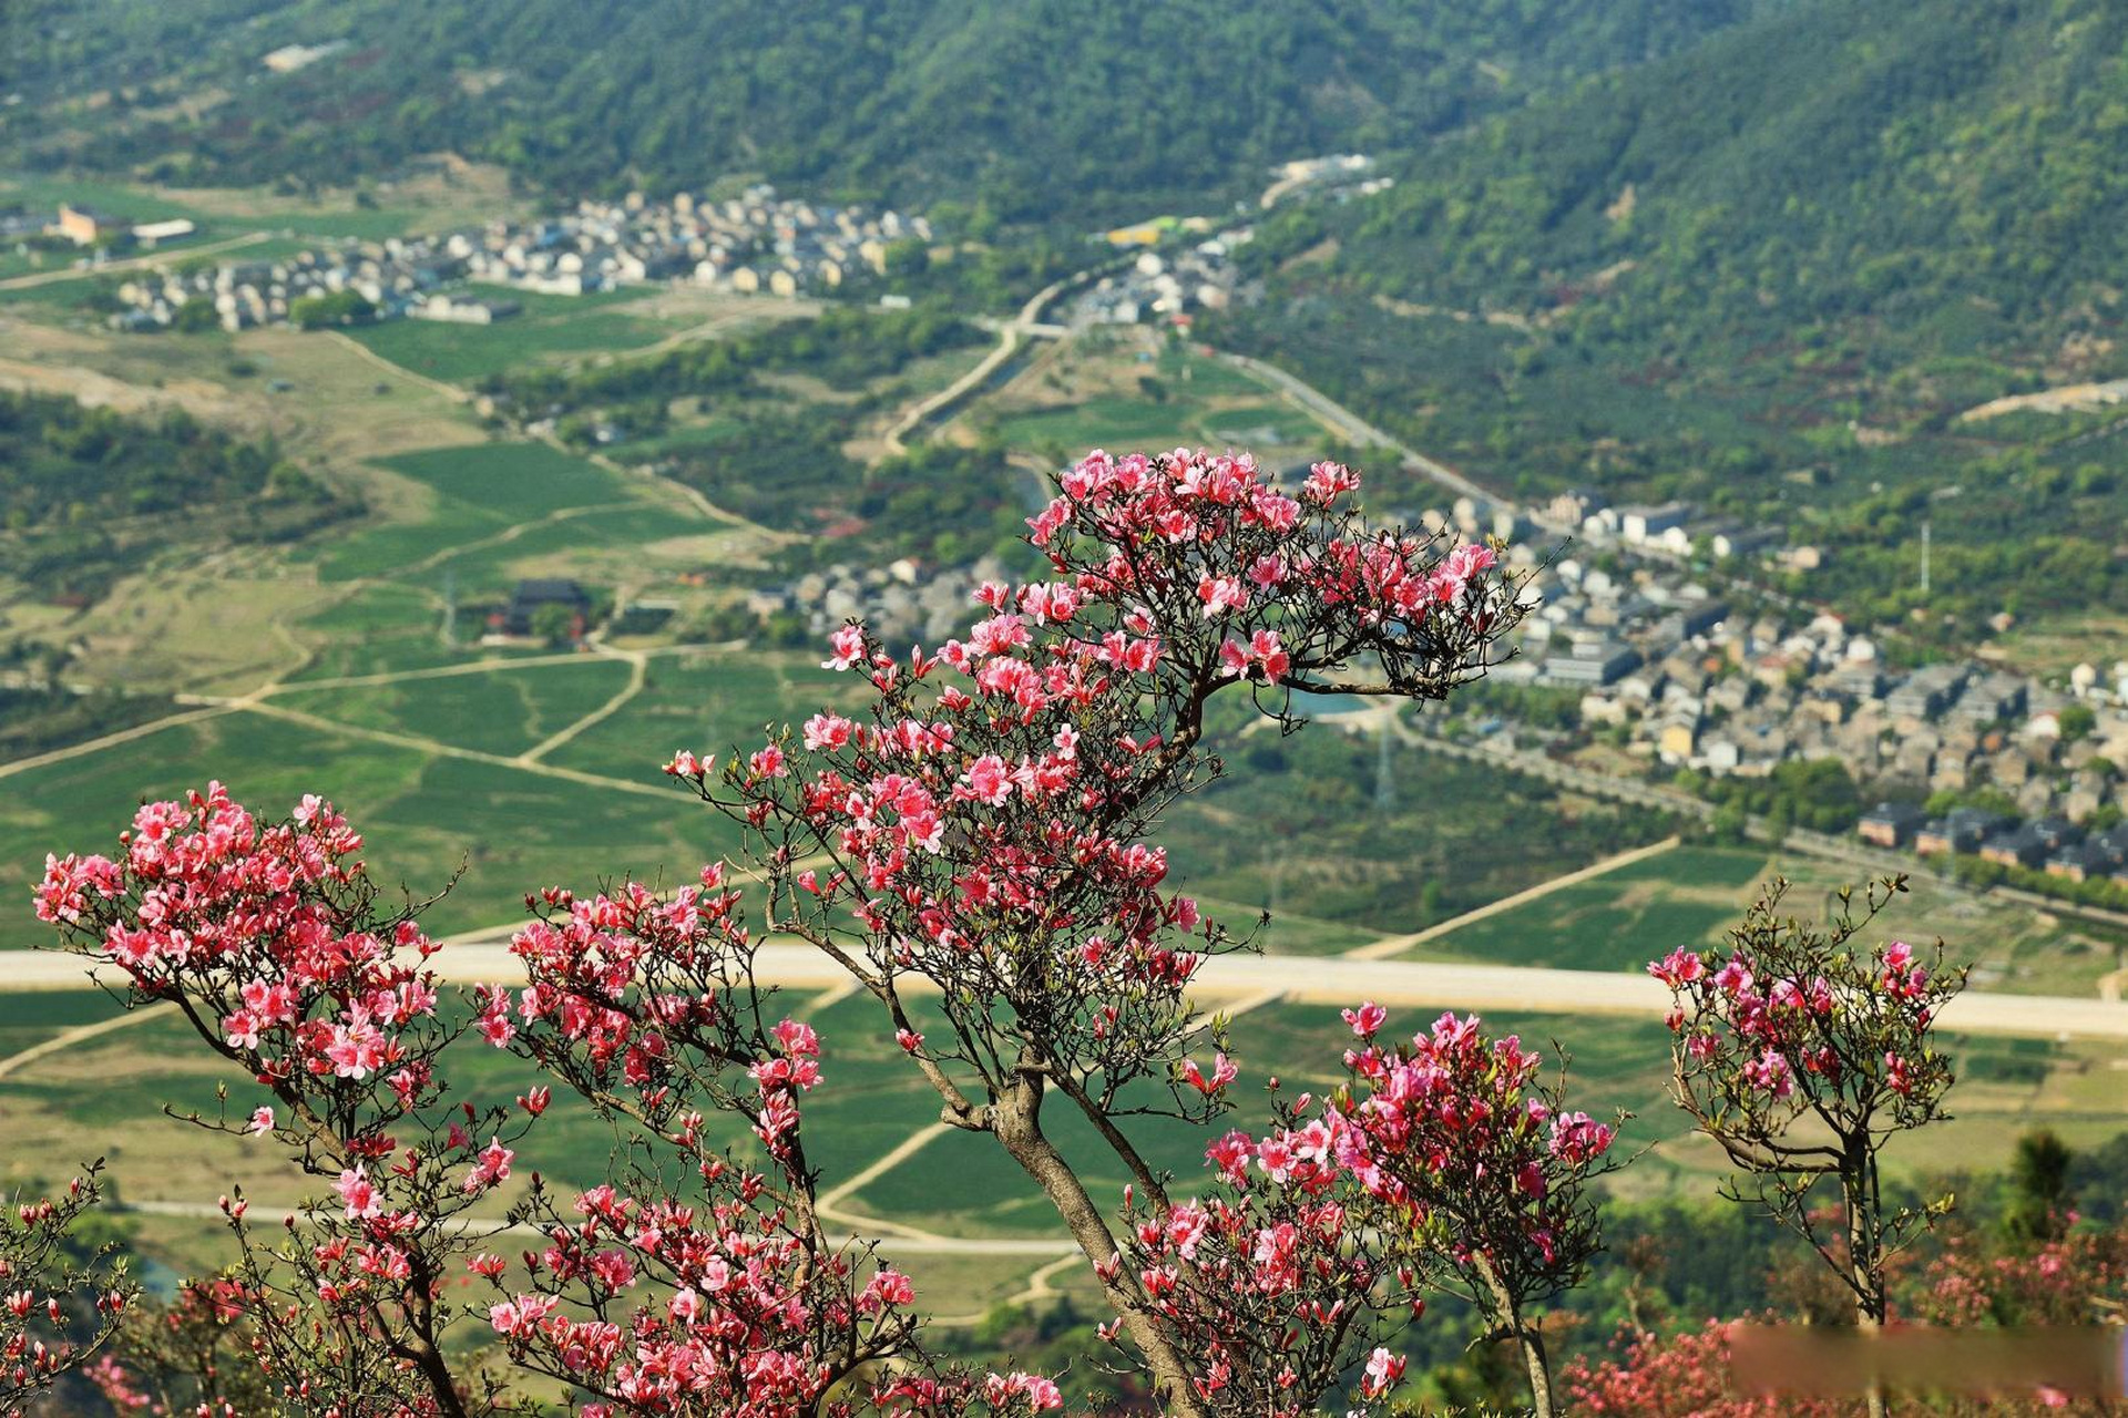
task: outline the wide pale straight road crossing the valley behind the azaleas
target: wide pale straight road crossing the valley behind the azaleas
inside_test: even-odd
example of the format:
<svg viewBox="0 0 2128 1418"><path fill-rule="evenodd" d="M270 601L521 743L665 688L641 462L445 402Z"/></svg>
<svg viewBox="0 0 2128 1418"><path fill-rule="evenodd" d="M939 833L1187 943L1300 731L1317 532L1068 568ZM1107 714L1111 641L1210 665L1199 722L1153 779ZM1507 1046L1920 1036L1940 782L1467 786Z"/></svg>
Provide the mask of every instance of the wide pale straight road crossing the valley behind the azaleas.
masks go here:
<svg viewBox="0 0 2128 1418"><path fill-rule="evenodd" d="M509 982L521 967L500 940L458 940L430 959L443 980L458 984ZM849 976L819 950L772 942L755 957L762 984L794 991L832 991ZM51 950L0 952L0 991L83 989L85 961ZM104 967L104 980L121 974ZM917 980L902 978L915 993ZM1349 957L1224 955L1204 961L1196 997L1207 1008L1224 1001L1277 995L1290 1003L1343 1008L1373 999L1396 1008L1513 1010L1536 1014L1622 1014L1660 1018L1670 993L1636 972L1541 969L1528 965L1453 965L1439 961L1362 961ZM1960 1033L2043 1040L2128 1042L2128 1003L2062 995L2000 995L1968 991L1943 1012L1943 1027Z"/></svg>

